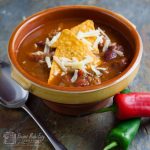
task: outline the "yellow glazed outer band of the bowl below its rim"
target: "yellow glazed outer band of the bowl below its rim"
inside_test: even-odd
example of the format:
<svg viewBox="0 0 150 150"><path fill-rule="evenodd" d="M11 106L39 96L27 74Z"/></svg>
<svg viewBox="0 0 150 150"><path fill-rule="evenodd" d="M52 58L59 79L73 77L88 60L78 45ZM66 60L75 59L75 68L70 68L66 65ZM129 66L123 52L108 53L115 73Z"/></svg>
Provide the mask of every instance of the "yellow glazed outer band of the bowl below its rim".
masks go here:
<svg viewBox="0 0 150 150"><path fill-rule="evenodd" d="M24 89L29 90L34 95L45 100L63 104L84 104L105 100L123 90L134 79L138 69L139 65L137 65L137 67L125 79L106 88L83 92L57 91L36 85L22 76L14 67L12 68L12 78L16 80L22 87L24 87Z"/></svg>

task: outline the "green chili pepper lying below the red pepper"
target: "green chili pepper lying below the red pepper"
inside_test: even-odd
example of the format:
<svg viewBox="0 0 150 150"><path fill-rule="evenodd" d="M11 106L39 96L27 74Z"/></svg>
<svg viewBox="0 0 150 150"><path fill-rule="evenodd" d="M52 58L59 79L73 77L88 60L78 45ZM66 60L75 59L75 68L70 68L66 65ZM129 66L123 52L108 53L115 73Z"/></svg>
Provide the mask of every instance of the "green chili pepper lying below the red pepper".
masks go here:
<svg viewBox="0 0 150 150"><path fill-rule="evenodd" d="M125 89L121 93L129 92L129 89ZM104 150L110 150L114 147L121 148L121 150L127 150L139 129L140 123L140 118L122 121L108 133L108 145L104 148Z"/></svg>

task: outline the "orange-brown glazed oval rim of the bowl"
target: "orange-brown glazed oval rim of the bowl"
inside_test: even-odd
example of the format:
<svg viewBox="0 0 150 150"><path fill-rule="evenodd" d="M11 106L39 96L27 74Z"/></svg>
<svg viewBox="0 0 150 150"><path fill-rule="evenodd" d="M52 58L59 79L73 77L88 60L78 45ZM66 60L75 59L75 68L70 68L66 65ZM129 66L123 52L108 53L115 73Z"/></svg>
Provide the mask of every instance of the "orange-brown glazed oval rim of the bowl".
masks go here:
<svg viewBox="0 0 150 150"><path fill-rule="evenodd" d="M63 11L63 10L93 10L93 11L97 11L100 13L103 13L105 15L109 15L111 17L113 17L114 19L117 19L118 21L126 24L126 26L128 26L128 28L130 28L132 30L132 34L135 37L135 41L136 41L136 50L135 50L135 55L131 61L131 63L129 64L129 66L119 75L115 76L114 78L107 80L105 82L103 82L100 85L92 85L92 86L86 86L86 87L62 87L62 86L57 86L57 85L48 85L42 81L39 81L37 79L35 79L35 77L32 77L31 75L29 75L17 62L17 60L15 59L16 56L14 54L14 43L15 40L17 38L17 35L19 34L19 31L28 23L30 23L30 21L33 21L36 18L39 18L41 16L44 16L46 14L55 12L55 11ZM45 9L43 11L37 12L31 16L29 16L26 20L22 21L13 31L10 40L9 40L9 44L8 44L8 57L9 60L12 64L12 66L18 71L18 73L20 75L22 75L25 79L29 80L33 85L41 87L41 88L45 88L47 90L52 90L52 91L59 91L59 92L71 92L71 93L85 93L85 92L91 92L91 91L97 91L100 89L104 89L107 87L112 86L113 84L117 84L120 81L124 80L125 78L127 78L134 70L135 68L138 66L138 64L140 63L141 57L142 57L142 51L143 51L143 44L142 44L142 40L141 37L139 35L139 33L136 30L136 27L134 24L132 24L128 19L126 19L125 17L123 17L122 15L113 12L111 10L105 9L105 8L101 8L101 7L97 7L97 6L87 6L87 5L65 5L65 6L57 6L57 7L53 7L53 8L48 8Z"/></svg>

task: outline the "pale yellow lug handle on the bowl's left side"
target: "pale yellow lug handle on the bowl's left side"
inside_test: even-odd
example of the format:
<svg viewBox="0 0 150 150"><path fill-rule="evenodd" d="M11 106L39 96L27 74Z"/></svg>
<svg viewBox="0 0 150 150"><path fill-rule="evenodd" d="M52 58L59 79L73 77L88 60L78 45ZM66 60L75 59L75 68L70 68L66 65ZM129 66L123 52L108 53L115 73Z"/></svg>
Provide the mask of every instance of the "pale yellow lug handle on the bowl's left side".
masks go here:
<svg viewBox="0 0 150 150"><path fill-rule="evenodd" d="M20 75L19 72L15 68L12 68L11 77L25 90L30 91L31 89L31 82L27 80L25 77Z"/></svg>

